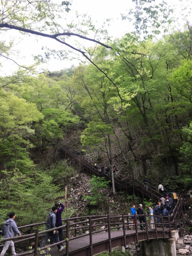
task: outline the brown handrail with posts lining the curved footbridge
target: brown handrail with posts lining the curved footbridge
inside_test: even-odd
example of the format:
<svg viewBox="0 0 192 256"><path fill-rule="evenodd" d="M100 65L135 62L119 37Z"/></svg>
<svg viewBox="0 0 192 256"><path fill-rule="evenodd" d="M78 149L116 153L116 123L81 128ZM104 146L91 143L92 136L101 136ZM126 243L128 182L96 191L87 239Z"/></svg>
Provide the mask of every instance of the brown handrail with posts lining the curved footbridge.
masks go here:
<svg viewBox="0 0 192 256"><path fill-rule="evenodd" d="M143 232L146 232L146 234L147 234L147 238L149 237L148 236L148 226L147 225L151 225L151 222L149 222L149 221L147 221L147 217L151 217L151 215L149 215L149 214L146 214L146 212L145 212L145 214L141 214L141 215L125 215L124 213L123 214L118 214L118 215L101 215L102 217L100 217L99 215L97 216L97 215L94 215L94 216L86 216L86 217L88 217L88 220L85 220L85 221L79 221L79 222L73 222L74 221L74 219L77 219L77 218L79 218L79 217L75 217L75 218L68 218L68 220L67 220L67 222L66 222L66 225L63 225L63 226L61 226L62 228L63 227L66 227L66 229L64 230L64 232L66 232L66 237L68 238L68 240L66 241L66 239L65 240L62 240L62 241L60 241L60 242L58 242L58 243L55 243L55 244L52 244L52 245L47 245L47 246L45 246L45 247L43 247L43 248L41 248L41 250L44 250L44 249L46 249L46 248L49 248L49 247L53 247L53 246L56 246L56 245L58 245L58 244L61 244L61 243L66 243L66 256L68 256L68 246L69 246L69 242L71 241L71 240L74 240L74 239L78 239L78 238L80 238L80 237L84 237L84 236L90 236L90 247L92 246L92 235L93 234L96 234L96 233L100 233L100 232L103 232L103 231L108 231L108 242L109 242L109 252L111 251L111 239L110 239L110 232L111 232L111 230L114 230L114 229L117 229L117 230L119 230L119 228L123 228L123 234L124 234L124 246L126 246L126 235L125 235L125 229L126 228L130 228L130 227L133 227L134 226L134 224L132 224L132 223L130 223L129 222L129 220L127 219L127 221L125 221L125 217L135 217L136 219L137 218L139 218L139 217L142 217L142 216L144 216L145 217L145 219L146 219L146 221L145 221L145 223L138 223L137 221L136 221L136 223L135 223L135 226L136 227L138 227L138 226L140 226L140 225L143 225L143 224L145 224L146 225L146 231L143 231ZM92 218L95 218L96 217L96 219L92 219ZM97 217L99 217L99 218L97 218ZM156 216L155 214L154 214L154 217L159 217L159 216ZM83 217L80 217L80 219L81 218L83 218ZM115 219L115 222L113 223L112 221L111 221L111 219ZM121 219L121 220L120 220ZM170 237L171 237L171 226L170 226L170 222L169 222L169 218L167 218L167 217L164 217L164 216L161 216L161 219L163 220L163 219L165 219L165 222L164 221L162 221L162 223L160 224L160 225L162 225L162 229L163 229L163 234L165 235L165 230L164 230L164 225L166 225L166 227L168 227L168 230L166 231L166 232L169 232L170 233ZM168 223L167 223L167 220L168 219ZM106 222L106 220L107 220L107 222ZM70 221L72 221L72 223L70 223ZM101 224L100 223L100 221L102 221L103 222L103 224ZM155 221L155 220L154 220ZM69 228L69 227L71 227L71 226L76 226L78 223L79 223L79 225L84 225L84 224L88 224L88 222L89 222L89 226L87 226L87 225L85 225L85 226L81 226L81 227L77 227L78 229L80 229L80 228L84 228L84 229L88 229L89 230L89 233L88 234L83 234L83 235L75 235L74 237L70 237L69 238L69 233L68 232L71 232L71 231L74 231L75 229L76 229L76 227L75 228ZM99 222L99 224L94 224L94 223L97 223L97 222ZM35 224L39 224L39 223L35 223ZM41 225L44 225L43 223L41 224ZM97 226L101 226L101 225L103 225L103 226L105 226L105 228L104 229L100 229L100 230L95 230L94 231L94 227L97 227ZM158 224L159 225L159 224ZM28 225L27 225L28 226ZM107 226L107 227L106 227ZM38 232L38 229L36 230L36 233L35 233L35 236L34 236L34 234L29 234L29 235L24 235L25 237L28 237L26 240L29 240L29 239L32 239L32 238L35 238L35 241L38 241L38 237L40 237L40 236L42 236L41 234L43 234L43 233L46 233L46 232L49 232L49 231L51 231L51 230L57 230L58 228L61 228L61 227L57 227L57 228L53 228L53 229L49 229L49 230L45 230L45 231L41 231L41 232ZM156 227L156 226L155 226ZM155 232L157 232L158 230L157 230L157 227L156 227L156 231ZM136 238L137 238L137 242L138 242L138 228L136 228L136 230L135 230L135 232L136 232ZM11 238L6 238L6 239L4 239L4 241L9 241L9 240L15 240L15 239L19 239L19 238L23 238L24 237L23 235L22 236L17 236L17 237L11 237ZM20 241L23 241L23 240L20 240ZM35 243L35 249L34 249L34 253L36 252L36 255L37 254L39 254L39 252L37 252L37 245L38 245L38 243ZM90 256L92 256L92 250L90 250ZM17 254L18 256L24 256L24 255L28 255L28 254L30 254L30 252L28 251L28 252L25 252L24 254L23 253L20 253L20 254Z"/></svg>

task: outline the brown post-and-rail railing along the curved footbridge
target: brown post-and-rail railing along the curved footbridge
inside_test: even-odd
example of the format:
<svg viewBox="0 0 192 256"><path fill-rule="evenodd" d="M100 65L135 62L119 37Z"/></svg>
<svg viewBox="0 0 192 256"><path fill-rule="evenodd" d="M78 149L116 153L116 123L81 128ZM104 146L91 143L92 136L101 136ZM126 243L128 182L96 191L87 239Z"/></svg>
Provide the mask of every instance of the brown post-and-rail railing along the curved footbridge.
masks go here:
<svg viewBox="0 0 192 256"><path fill-rule="evenodd" d="M145 223L142 223L142 224L138 223L137 218L143 217L143 216L145 217ZM164 238L165 238L164 225L167 227L166 231L170 232L170 237L172 237L172 232L171 232L172 229L171 229L171 224L170 224L169 217L164 217L164 216L161 215L160 216L161 224L156 224L156 218L155 217L159 217L159 216L155 216L155 213L154 213L153 216L154 216L154 223L152 223L152 224L154 224L154 227L155 227L154 232L156 234L156 239L158 239L157 231L160 231L160 229L163 231L163 235L164 235ZM136 220L135 225L132 224L132 222L130 223L129 217L134 217L135 218L135 220ZM135 213L135 215L128 215L128 214L122 213L121 215L106 214L106 215L100 215L100 216L95 215L95 216L74 217L74 218L62 220L62 221L66 221L66 225L56 227L56 228L52 228L52 229L49 229L49 230L44 230L44 231L41 231L41 232L39 232L39 229L37 228L34 233L31 233L31 234L28 234L28 235L21 235L21 236L15 236L15 237L10 237L10 238L4 238L3 241L13 240L14 243L22 243L22 242L27 241L27 240L29 240L29 241L31 241L32 239L35 240L35 246L34 246L33 250L16 254L18 256L24 256L24 255L28 255L28 254L31 254L31 253L33 253L35 256L37 256L41 250L44 250L48 247L56 246L56 245L61 244L61 243L65 243L66 244L66 248L65 248L66 254L65 255L68 256L69 255L69 243L70 243L70 241L72 241L74 239L78 239L80 237L89 236L90 256L92 256L93 255L93 253L92 253L92 235L94 235L96 233L103 232L103 231L108 232L109 252L111 252L111 250L112 250L112 248L111 248L111 230L119 230L119 229L123 230L124 246L126 247L127 244L126 244L126 234L125 234L126 232L125 232L125 230L130 229L133 226L135 226L136 227L136 229L135 229L136 242L139 243L138 226L145 224L146 230L143 231L143 233L146 233L147 240L149 240L149 235L148 235L148 232L149 232L148 228L149 227L148 227L148 225L151 225L151 222L147 221L147 217L151 217L151 215L148 215L146 213L144 215L137 215L136 213ZM79 221L77 222L77 220L79 220ZM164 220L166 221L166 223L164 223ZM40 227L44 224L46 224L46 222L35 223L35 224L32 223L32 224L22 226L22 227L18 227L18 228L19 229L21 229L21 228L24 229L24 228L29 228L30 227L30 230L32 230L32 232L33 232L33 229L31 229L31 227L32 228L35 227L35 226ZM105 228L104 229L98 229L101 226L104 226ZM38 250L39 238L44 236L45 233L47 233L47 232L58 230L60 228L63 229L63 234L64 234L65 239L58 242L58 243L47 245L47 246L41 248L40 250ZM84 232L86 232L86 231L89 231L89 232L87 232L85 234L77 235L76 231L80 230L80 229L84 230ZM180 233L180 234L182 234L182 233ZM15 240L18 240L18 241L15 241ZM0 245L0 246L2 247L3 245Z"/></svg>

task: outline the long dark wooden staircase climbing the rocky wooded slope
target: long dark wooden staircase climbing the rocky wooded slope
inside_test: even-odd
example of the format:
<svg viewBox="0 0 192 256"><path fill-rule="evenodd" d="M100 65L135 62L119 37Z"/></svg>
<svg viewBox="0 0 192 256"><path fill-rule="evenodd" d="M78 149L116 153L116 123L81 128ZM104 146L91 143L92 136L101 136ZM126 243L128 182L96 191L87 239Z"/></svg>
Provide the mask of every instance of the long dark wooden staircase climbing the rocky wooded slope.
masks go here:
<svg viewBox="0 0 192 256"><path fill-rule="evenodd" d="M94 162L92 160L82 155L78 157L76 151L73 148L71 148L70 146L60 141L52 141L52 142L58 145L58 147L60 147L63 154L65 154L65 157L66 155L72 157L80 165L80 167L83 167L84 171L87 172L87 174L90 173L91 175L95 175L97 177L104 177L106 180L109 180L110 183L112 184L112 177L110 172L108 174L106 173L102 174L100 171L94 168ZM114 177L114 181L115 181L116 188L120 191L125 190L127 193L127 191L132 190L133 196L135 195L135 192L142 194L143 201L144 201L144 198L147 198L147 199L151 199L152 203L154 203L154 202L158 202L159 199L161 198L161 194L157 192L158 185L151 182L150 180L148 180L148 183L147 183L148 189L146 189L143 186L143 183L141 180L138 180L136 178L127 178L120 173L116 173ZM171 222L171 226L175 229L177 229L177 227L179 226L180 231L181 231L181 224L182 224L180 221L181 218L183 220L182 221L183 226L185 227L184 213L182 211L183 206L186 213L184 198L181 197L180 195L177 205L174 206L173 215L172 215L173 221Z"/></svg>

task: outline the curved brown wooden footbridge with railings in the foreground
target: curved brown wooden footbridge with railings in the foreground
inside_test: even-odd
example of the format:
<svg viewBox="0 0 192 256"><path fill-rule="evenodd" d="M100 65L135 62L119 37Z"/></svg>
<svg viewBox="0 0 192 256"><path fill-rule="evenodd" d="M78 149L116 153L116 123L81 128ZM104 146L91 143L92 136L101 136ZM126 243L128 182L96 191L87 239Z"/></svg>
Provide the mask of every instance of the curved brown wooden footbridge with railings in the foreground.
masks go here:
<svg viewBox="0 0 192 256"><path fill-rule="evenodd" d="M143 215L134 215L134 218L137 219L139 216ZM85 217L74 217L70 219L63 219L62 221L66 222L66 225L61 226L63 229L64 240L59 243L54 243L52 245L47 245L41 250L45 250L50 247L48 254L52 256L58 255L71 255L71 256L93 256L98 255L102 252L111 252L112 249L115 249L120 246L126 248L127 244L132 242L137 242L141 240L149 239L158 239L158 238L172 238L172 228L170 219L167 217L161 216L161 223L157 224L154 218L155 230L150 230L150 222L147 221L147 215L145 213L145 226L146 230L138 230L140 223L137 222L136 230L133 230L133 222L129 220L130 215L102 215L102 216L85 216ZM132 216L133 217L133 216ZM155 215L154 215L155 217ZM166 219L166 227L164 228L164 219ZM79 220L79 221L77 221ZM38 255L40 250L38 248L41 245L42 237L46 232L57 230L61 227L56 227L49 230L44 230L39 232L39 228L43 223L31 223L27 226L18 227L18 229L28 229L30 228L30 233L28 235L21 235L11 238L4 238L4 241L13 240L14 243L23 243L29 240L29 246L31 241L35 240L33 249L27 252L22 252L16 254L16 256L25 256L29 254ZM144 223L143 223L144 224ZM33 228L36 227L35 233L33 233ZM44 226L45 228L45 226ZM26 230L27 231L27 230ZM79 231L79 234L77 234ZM18 240L18 241L16 241ZM66 246L65 249L61 252L58 251L58 244L64 243ZM0 245L3 247L3 245Z"/></svg>

